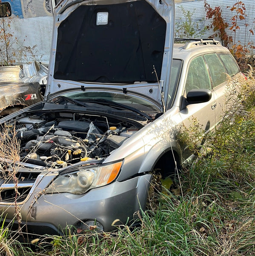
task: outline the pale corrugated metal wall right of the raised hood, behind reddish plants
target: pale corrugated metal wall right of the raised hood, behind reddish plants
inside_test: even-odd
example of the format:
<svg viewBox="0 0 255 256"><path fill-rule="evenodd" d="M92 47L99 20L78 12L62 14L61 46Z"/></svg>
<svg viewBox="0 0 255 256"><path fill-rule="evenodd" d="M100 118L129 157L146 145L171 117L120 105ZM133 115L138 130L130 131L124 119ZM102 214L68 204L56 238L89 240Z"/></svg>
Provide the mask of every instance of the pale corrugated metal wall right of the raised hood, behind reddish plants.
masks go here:
<svg viewBox="0 0 255 256"><path fill-rule="evenodd" d="M235 15L234 12L230 11L230 8L226 8L227 6L233 6L238 0L207 0L207 3L209 3L210 7L212 9L215 8L215 6L221 6L222 9L222 15L225 18L225 21L229 24L231 24L231 17ZM242 1L245 4L246 8L246 20L238 20L238 25L240 26L240 30L237 30L236 33L236 43L238 44L238 41L241 42L241 44L247 44L248 42L253 42L255 45L255 35L252 35L249 32L249 29L254 30L254 21L255 21L255 8L254 8L254 0L243 0ZM181 9L179 6L183 6L185 10L192 11L195 9L194 15L192 15L192 21L199 24L199 28L202 29L204 26L208 25L211 20L206 20L206 12L204 9L204 0L175 0L175 6L176 6L176 12L175 12L175 19L176 23L184 21L183 14L181 12ZM246 24L249 24L249 26L245 26ZM227 29L229 35L232 35L234 38L234 33ZM206 32L202 37L206 38L209 35L212 35L211 32Z"/></svg>

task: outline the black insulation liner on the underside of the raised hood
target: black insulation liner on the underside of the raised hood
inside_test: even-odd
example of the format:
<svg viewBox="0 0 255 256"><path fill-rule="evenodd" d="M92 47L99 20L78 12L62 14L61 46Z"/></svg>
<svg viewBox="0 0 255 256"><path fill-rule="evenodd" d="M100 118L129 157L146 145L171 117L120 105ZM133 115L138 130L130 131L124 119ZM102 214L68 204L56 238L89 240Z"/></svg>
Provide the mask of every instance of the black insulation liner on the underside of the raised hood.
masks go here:
<svg viewBox="0 0 255 256"><path fill-rule="evenodd" d="M108 13L97 25L97 13ZM157 82L166 21L145 0L83 5L57 29L54 79L97 83Z"/></svg>

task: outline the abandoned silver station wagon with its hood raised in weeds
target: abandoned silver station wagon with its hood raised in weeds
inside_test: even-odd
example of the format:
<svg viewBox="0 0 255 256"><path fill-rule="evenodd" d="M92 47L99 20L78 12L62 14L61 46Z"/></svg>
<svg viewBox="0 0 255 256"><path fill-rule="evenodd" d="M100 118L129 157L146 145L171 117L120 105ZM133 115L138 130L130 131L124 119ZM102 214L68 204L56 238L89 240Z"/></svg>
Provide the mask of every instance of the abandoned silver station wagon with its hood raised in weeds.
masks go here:
<svg viewBox="0 0 255 256"><path fill-rule="evenodd" d="M1 145L20 146L0 155L5 223L111 231L144 209L155 169L192 158L180 125L214 129L240 70L218 41L175 44L174 21L174 0L59 1L45 98L0 119Z"/></svg>

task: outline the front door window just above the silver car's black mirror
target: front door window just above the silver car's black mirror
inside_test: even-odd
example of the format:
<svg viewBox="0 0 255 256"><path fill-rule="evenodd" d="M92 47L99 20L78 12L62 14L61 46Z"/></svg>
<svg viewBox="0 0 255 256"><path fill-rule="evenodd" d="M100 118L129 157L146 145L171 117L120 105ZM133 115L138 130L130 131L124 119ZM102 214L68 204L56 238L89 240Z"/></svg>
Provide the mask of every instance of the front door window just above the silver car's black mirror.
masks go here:
<svg viewBox="0 0 255 256"><path fill-rule="evenodd" d="M189 64L185 83L186 93L192 89L212 89L206 63L202 56L193 59Z"/></svg>

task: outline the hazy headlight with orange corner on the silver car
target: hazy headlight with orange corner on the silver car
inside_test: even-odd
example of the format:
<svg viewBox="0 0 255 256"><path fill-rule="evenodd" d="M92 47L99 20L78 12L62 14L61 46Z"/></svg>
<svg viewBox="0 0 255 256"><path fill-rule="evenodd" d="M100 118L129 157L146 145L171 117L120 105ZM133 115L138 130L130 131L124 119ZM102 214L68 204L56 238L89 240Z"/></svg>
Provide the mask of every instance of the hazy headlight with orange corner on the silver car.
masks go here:
<svg viewBox="0 0 255 256"><path fill-rule="evenodd" d="M59 175L46 189L46 193L68 192L81 195L89 189L111 183L120 172L123 161L103 164L99 166L86 166L76 172Z"/></svg>

